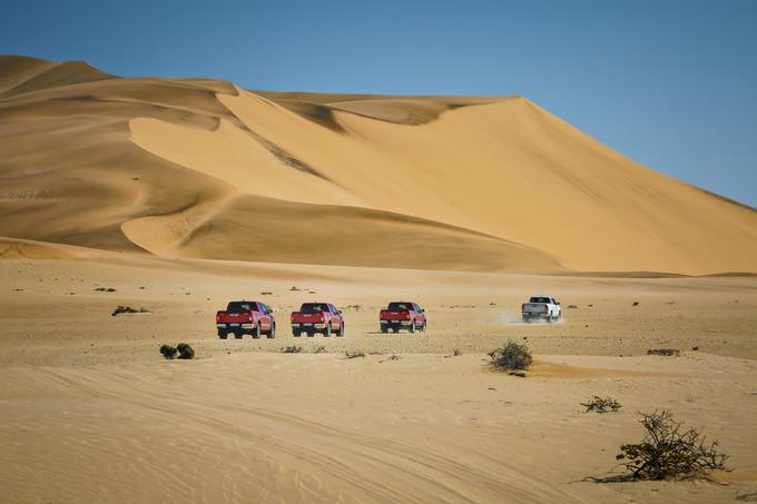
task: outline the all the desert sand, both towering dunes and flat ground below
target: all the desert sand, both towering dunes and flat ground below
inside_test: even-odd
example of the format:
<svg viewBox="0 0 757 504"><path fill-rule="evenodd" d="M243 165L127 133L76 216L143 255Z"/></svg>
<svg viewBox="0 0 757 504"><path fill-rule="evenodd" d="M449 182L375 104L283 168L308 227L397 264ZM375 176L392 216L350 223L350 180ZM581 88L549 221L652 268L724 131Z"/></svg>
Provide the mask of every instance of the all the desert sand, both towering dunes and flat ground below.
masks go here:
<svg viewBox="0 0 757 504"><path fill-rule="evenodd" d="M0 57L0 237L3 502L757 498L757 211L525 98ZM532 294L563 318L522 324ZM276 338L216 337L240 298ZM292 336L314 299L345 337ZM427 333L378 332L399 299ZM525 377L488 364L509 339ZM159 355L179 342L194 360ZM623 407L583 413L594 394ZM733 471L593 481L659 408Z"/></svg>

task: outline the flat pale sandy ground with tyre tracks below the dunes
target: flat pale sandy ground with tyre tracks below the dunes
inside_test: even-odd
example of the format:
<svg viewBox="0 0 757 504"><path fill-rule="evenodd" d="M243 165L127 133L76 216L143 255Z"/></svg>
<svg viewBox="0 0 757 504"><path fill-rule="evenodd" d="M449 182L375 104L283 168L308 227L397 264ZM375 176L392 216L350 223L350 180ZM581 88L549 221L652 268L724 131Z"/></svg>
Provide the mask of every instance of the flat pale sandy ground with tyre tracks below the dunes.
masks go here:
<svg viewBox="0 0 757 504"><path fill-rule="evenodd" d="M110 255L0 260L0 278L9 502L728 502L757 492L755 277ZM535 293L557 296L563 320L518 323ZM275 339L216 338L215 310L242 297L275 309ZM291 335L291 308L313 298L343 308L344 338ZM377 332L377 309L400 298L426 307L426 334ZM153 314L112 317L117 305ZM537 354L525 378L486 366L508 338ZM160 357L160 344L179 342L195 360ZM304 353L282 354L288 345ZM684 353L645 355L658 347ZM582 413L593 394L623 408ZM641 437L638 412L655 408L705 426L735 471L718 482L584 481L611 473L619 445Z"/></svg>

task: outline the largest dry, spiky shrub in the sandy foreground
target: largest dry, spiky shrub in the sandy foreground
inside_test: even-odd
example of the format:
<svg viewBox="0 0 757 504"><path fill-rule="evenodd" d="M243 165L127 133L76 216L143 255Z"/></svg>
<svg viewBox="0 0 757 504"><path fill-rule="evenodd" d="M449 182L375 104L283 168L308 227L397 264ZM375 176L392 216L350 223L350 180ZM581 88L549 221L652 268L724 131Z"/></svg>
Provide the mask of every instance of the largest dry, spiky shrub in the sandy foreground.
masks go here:
<svg viewBox="0 0 757 504"><path fill-rule="evenodd" d="M696 478L725 468L728 456L718 442L707 443L701 428L684 428L669 411L642 414L639 423L646 431L641 443L622 445L616 457L629 480Z"/></svg>

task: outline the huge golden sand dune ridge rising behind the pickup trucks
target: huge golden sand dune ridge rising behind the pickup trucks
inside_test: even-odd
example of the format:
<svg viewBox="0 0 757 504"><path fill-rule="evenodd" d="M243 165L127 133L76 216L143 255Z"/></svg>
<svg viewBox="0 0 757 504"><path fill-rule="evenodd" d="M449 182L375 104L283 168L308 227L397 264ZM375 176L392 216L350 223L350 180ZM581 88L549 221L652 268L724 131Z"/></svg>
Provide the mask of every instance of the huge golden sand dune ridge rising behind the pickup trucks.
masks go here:
<svg viewBox="0 0 757 504"><path fill-rule="evenodd" d="M757 271L754 209L522 97L252 92L0 57L0 236L272 263Z"/></svg>

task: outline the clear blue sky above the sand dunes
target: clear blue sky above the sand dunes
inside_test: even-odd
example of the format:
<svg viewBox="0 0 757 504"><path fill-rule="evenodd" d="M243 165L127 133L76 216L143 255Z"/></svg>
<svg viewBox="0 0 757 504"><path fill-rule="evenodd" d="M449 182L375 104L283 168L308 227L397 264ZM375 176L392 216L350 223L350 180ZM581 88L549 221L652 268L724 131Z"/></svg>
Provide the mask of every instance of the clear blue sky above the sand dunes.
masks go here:
<svg viewBox="0 0 757 504"><path fill-rule="evenodd" d="M523 95L757 207L757 0L2 0L0 53L248 89Z"/></svg>

